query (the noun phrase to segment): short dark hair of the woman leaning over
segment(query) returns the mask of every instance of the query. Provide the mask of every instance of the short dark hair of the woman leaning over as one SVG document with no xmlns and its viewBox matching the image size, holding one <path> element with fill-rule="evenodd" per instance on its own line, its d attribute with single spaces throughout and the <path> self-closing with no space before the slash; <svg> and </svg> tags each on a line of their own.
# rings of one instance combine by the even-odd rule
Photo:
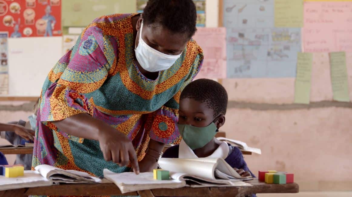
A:
<svg viewBox="0 0 352 197">
<path fill-rule="evenodd" d="M 149 0 L 143 10 L 143 23 L 159 23 L 174 33 L 191 38 L 197 31 L 197 11 L 192 0 Z"/>
</svg>

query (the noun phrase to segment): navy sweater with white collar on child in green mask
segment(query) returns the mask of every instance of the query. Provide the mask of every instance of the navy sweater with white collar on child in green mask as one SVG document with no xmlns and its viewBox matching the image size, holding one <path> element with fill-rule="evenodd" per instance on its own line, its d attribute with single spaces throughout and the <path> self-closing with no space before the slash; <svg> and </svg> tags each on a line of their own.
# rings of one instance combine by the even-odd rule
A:
<svg viewBox="0 0 352 197">
<path fill-rule="evenodd" d="M 189 148 L 183 140 L 181 140 L 180 145 L 172 146 L 166 149 L 162 156 L 163 158 L 198 158 L 194 154 L 193 150 Z M 252 177 L 254 174 L 247 167 L 244 161 L 242 152 L 239 148 L 231 146 L 226 142 L 222 142 L 219 147 L 214 151 L 213 154 L 209 155 L 208 158 L 222 158 L 233 168 L 243 169 L 244 171 L 249 171 Z"/>
</svg>

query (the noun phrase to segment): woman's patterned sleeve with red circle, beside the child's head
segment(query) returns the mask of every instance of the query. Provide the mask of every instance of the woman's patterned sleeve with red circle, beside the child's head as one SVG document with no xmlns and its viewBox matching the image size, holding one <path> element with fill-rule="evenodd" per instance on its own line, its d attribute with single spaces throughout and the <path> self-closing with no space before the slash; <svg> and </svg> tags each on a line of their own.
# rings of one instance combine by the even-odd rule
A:
<svg viewBox="0 0 352 197">
<path fill-rule="evenodd" d="M 203 63 L 203 53 L 199 48 L 199 54 L 196 56 L 193 65 L 189 71 L 186 80 L 183 82 L 180 90 L 167 103 L 164 104 L 155 113 L 150 138 L 152 140 L 166 143 L 178 144 L 181 141 L 181 135 L 178 132 L 178 107 L 180 103 L 180 95 L 184 87 L 186 87 L 197 75 Z"/>
</svg>

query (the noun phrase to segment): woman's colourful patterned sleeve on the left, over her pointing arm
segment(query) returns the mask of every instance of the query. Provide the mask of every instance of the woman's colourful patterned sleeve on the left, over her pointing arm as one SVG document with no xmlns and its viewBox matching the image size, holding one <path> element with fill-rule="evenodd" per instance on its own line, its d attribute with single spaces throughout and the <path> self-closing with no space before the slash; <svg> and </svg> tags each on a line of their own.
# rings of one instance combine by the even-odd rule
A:
<svg viewBox="0 0 352 197">
<path fill-rule="evenodd" d="M 81 39 L 72 49 L 70 60 L 61 77 L 44 94 L 41 103 L 40 121 L 56 129 L 50 121 L 60 121 L 79 113 L 93 115 L 93 107 L 83 95 L 97 90 L 107 79 L 111 65 L 115 60 L 117 41 L 103 35 L 98 27 L 88 27 Z M 115 47 L 115 50 L 114 50 Z M 65 62 L 60 62 L 64 64 Z M 82 142 L 81 138 L 69 136 L 71 140 Z"/>
</svg>

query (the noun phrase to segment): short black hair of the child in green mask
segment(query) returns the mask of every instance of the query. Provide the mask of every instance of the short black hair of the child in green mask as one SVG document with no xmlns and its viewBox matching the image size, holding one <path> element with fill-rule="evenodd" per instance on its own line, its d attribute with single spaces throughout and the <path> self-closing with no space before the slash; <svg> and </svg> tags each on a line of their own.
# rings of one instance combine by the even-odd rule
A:
<svg viewBox="0 0 352 197">
<path fill-rule="evenodd" d="M 227 92 L 220 83 L 211 79 L 198 79 L 190 82 L 181 92 L 180 100 L 184 98 L 194 99 L 214 111 L 214 117 L 220 113 L 226 114 Z"/>
</svg>

